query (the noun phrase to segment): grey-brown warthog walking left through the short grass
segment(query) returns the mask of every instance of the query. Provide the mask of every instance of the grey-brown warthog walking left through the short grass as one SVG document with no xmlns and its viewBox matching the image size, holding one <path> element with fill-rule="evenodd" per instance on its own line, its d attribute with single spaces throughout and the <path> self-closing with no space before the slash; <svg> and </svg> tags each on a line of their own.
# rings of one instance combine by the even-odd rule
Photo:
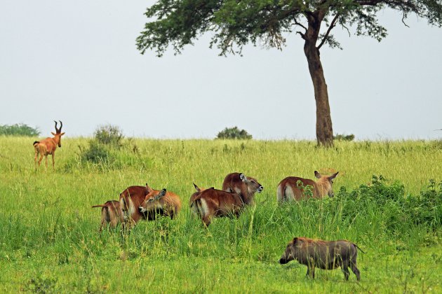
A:
<svg viewBox="0 0 442 294">
<path fill-rule="evenodd" d="M 359 247 L 356 244 L 347 240 L 323 241 L 295 237 L 288 243 L 279 263 L 284 265 L 290 260 L 297 260 L 301 265 L 307 265 L 307 276 L 313 279 L 315 267 L 320 269 L 341 267 L 345 279 L 348 280 L 350 275 L 348 267 L 350 267 L 359 281 L 361 275 L 356 267 L 357 248 Z"/>
</svg>

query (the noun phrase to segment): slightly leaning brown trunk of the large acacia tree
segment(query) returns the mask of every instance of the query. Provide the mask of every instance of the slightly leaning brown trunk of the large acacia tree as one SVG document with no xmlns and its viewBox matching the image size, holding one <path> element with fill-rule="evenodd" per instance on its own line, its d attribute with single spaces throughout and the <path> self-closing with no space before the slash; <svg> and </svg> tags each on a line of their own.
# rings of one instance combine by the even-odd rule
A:
<svg viewBox="0 0 442 294">
<path fill-rule="evenodd" d="M 322 69 L 319 49 L 316 48 L 319 29 L 323 15 L 317 11 L 307 17 L 309 27 L 302 37 L 305 40 L 304 53 L 309 64 L 310 76 L 314 87 L 314 99 L 316 100 L 316 140 L 318 145 L 333 146 L 333 127 L 328 104 L 328 91 L 326 79 Z"/>
</svg>

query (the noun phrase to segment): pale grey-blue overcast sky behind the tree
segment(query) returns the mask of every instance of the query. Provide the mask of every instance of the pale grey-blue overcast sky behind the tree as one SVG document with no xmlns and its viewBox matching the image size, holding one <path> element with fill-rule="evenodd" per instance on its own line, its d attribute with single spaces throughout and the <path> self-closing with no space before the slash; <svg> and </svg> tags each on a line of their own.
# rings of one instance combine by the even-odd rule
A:
<svg viewBox="0 0 442 294">
<path fill-rule="evenodd" d="M 62 120 L 66 137 L 116 125 L 127 137 L 216 137 L 238 126 L 255 139 L 316 139 L 316 106 L 303 43 L 246 46 L 218 56 L 210 36 L 174 55 L 141 55 L 135 38 L 154 1 L 0 1 L 0 125 L 41 136 Z M 321 48 L 335 134 L 356 139 L 440 139 L 442 29 L 392 10 L 388 36 L 349 36 Z M 353 33 L 353 30 L 350 29 Z"/>
</svg>

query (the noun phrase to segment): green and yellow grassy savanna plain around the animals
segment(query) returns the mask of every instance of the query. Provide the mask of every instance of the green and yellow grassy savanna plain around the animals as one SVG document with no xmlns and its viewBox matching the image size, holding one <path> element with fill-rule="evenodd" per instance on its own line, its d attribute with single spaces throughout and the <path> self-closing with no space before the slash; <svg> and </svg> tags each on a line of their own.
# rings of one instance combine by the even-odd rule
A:
<svg viewBox="0 0 442 294">
<path fill-rule="evenodd" d="M 442 142 L 126 139 L 107 160 L 84 160 L 88 139 L 63 138 L 55 172 L 34 172 L 34 139 L 0 137 L 0 292 L 434 292 L 442 277 Z M 44 160 L 43 160 L 44 162 Z M 286 176 L 339 171 L 334 198 L 276 204 Z M 192 183 L 221 188 L 230 172 L 264 191 L 239 218 L 208 229 L 189 211 Z M 373 177 L 373 175 L 375 177 Z M 382 175 L 382 176 L 381 176 Z M 434 181 L 430 181 L 430 180 Z M 98 234 L 100 209 L 133 185 L 167 188 L 183 208 L 129 235 Z M 349 239 L 361 282 L 340 269 L 279 265 L 296 236 Z"/>
</svg>

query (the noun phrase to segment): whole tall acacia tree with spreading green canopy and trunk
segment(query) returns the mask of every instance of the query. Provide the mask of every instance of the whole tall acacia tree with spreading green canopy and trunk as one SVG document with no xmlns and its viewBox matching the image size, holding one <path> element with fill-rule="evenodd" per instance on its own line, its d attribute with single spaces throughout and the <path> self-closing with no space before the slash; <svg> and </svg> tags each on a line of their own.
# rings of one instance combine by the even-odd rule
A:
<svg viewBox="0 0 442 294">
<path fill-rule="evenodd" d="M 171 46 L 175 54 L 207 31 L 213 31 L 210 48 L 220 55 L 241 54 L 243 45 L 262 42 L 281 50 L 288 33 L 304 40 L 316 100 L 316 139 L 323 146 L 333 145 L 333 127 L 328 90 L 319 50 L 324 44 L 340 48 L 331 31 L 334 27 L 355 29 L 356 35 L 377 41 L 387 29 L 377 20 L 377 12 L 399 10 L 402 21 L 414 13 L 430 25 L 442 25 L 442 0 L 159 0 L 147 8 L 147 22 L 137 38 L 142 54 L 155 50 L 161 57 Z M 322 28 L 321 28 L 322 26 Z"/>
</svg>

